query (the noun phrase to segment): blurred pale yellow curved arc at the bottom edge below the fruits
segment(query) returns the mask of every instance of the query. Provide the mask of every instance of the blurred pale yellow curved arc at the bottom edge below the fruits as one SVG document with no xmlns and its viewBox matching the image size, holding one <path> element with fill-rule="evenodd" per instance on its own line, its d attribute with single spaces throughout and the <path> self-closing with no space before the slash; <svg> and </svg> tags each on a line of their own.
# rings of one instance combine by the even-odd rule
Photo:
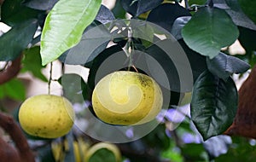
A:
<svg viewBox="0 0 256 162">
<path fill-rule="evenodd" d="M 113 161 L 113 162 L 121 161 L 121 153 L 117 146 L 115 146 L 111 143 L 108 143 L 108 142 L 99 142 L 99 143 L 96 143 L 95 145 L 93 145 L 91 148 L 89 148 L 88 152 L 85 153 L 85 162 L 89 162 L 91 156 L 101 149 L 108 149 L 108 151 L 113 153 L 113 155 L 115 157 L 115 161 Z M 104 161 L 104 157 L 102 157 L 102 161 Z"/>
</svg>

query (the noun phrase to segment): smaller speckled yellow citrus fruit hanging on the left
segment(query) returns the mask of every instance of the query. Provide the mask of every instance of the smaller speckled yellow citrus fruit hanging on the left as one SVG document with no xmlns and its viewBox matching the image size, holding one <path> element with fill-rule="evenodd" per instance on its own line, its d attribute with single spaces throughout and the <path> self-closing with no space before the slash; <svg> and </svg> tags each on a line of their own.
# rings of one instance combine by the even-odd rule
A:
<svg viewBox="0 0 256 162">
<path fill-rule="evenodd" d="M 72 104 L 62 96 L 34 95 L 20 106 L 22 130 L 32 136 L 57 138 L 73 127 L 75 113 Z"/>
</svg>

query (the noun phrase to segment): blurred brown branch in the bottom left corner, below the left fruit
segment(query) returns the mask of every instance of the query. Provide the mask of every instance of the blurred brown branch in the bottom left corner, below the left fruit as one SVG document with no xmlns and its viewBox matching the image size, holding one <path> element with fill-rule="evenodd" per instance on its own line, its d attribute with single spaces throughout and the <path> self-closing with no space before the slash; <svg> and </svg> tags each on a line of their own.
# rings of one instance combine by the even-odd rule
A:
<svg viewBox="0 0 256 162">
<path fill-rule="evenodd" d="M 23 135 L 20 127 L 15 123 L 15 120 L 10 116 L 0 113 L 0 126 L 9 134 L 9 136 L 11 136 L 12 140 L 15 142 L 15 146 L 16 148 L 18 148 L 20 162 L 34 162 L 35 159 L 32 150 L 29 148 L 26 137 Z M 4 145 L 4 143 L 2 144 Z M 1 148 L 3 148 L 2 145 Z M 6 149 L 6 151 L 9 151 L 8 153 L 6 153 L 6 156 L 8 156 L 9 153 L 15 154 L 14 151 L 11 151 L 9 149 Z"/>
</svg>

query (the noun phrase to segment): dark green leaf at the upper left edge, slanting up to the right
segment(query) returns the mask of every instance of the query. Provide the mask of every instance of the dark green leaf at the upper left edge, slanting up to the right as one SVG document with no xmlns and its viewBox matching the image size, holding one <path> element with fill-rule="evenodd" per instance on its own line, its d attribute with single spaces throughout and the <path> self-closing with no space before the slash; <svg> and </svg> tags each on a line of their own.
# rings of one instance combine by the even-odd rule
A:
<svg viewBox="0 0 256 162">
<path fill-rule="evenodd" d="M 26 20 L 3 34 L 0 37 L 0 61 L 15 60 L 32 41 L 37 28 L 38 20 Z"/>
</svg>

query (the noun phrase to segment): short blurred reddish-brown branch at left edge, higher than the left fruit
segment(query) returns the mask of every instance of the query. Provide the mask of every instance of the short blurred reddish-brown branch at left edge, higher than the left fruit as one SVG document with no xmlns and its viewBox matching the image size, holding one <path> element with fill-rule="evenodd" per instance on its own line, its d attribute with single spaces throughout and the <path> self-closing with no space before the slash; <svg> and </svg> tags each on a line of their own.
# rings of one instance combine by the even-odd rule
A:
<svg viewBox="0 0 256 162">
<path fill-rule="evenodd" d="M 15 76 L 20 72 L 21 68 L 21 59 L 20 55 L 15 61 L 12 61 L 11 65 L 0 72 L 0 84 L 8 82 L 10 79 L 15 78 Z"/>
</svg>

